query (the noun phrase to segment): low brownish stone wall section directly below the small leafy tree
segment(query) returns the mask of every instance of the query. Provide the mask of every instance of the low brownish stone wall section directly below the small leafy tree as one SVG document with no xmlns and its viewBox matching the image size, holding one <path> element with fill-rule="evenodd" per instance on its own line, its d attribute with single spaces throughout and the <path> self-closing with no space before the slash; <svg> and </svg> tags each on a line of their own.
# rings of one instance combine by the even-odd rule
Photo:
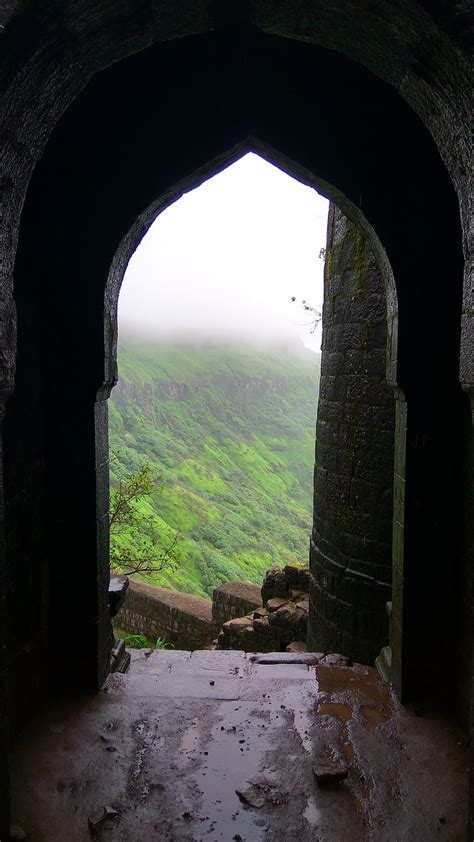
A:
<svg viewBox="0 0 474 842">
<path fill-rule="evenodd" d="M 162 637 L 177 649 L 204 649 L 212 642 L 212 605 L 207 599 L 130 580 L 117 628 Z"/>
</svg>

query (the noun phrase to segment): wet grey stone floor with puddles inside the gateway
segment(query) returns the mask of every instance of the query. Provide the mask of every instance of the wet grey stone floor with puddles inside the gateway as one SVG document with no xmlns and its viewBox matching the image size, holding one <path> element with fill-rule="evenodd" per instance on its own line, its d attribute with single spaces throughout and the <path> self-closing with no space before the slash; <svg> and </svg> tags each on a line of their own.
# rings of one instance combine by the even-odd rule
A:
<svg viewBox="0 0 474 842">
<path fill-rule="evenodd" d="M 369 667 L 317 660 L 134 652 L 24 732 L 14 824 L 31 842 L 464 839 L 454 725 L 401 708 Z"/>
</svg>

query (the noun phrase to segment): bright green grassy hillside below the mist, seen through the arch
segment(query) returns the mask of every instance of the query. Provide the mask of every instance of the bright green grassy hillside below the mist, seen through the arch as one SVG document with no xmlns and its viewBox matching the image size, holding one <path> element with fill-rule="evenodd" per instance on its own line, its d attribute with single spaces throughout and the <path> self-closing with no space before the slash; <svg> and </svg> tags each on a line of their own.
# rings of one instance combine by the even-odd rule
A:
<svg viewBox="0 0 474 842">
<path fill-rule="evenodd" d="M 182 539 L 180 567 L 151 581 L 210 596 L 306 562 L 318 382 L 310 351 L 121 344 L 111 483 L 147 457 L 163 487 L 144 514 Z"/>
</svg>

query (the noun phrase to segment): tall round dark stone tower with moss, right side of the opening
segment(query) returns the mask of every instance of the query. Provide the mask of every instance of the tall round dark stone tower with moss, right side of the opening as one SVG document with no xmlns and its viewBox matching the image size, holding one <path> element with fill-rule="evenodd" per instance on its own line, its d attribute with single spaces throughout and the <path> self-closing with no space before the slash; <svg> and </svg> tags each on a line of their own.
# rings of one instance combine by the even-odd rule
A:
<svg viewBox="0 0 474 842">
<path fill-rule="evenodd" d="M 316 427 L 308 645 L 373 663 L 388 643 L 395 408 L 386 295 L 359 230 L 330 206 Z"/>
</svg>

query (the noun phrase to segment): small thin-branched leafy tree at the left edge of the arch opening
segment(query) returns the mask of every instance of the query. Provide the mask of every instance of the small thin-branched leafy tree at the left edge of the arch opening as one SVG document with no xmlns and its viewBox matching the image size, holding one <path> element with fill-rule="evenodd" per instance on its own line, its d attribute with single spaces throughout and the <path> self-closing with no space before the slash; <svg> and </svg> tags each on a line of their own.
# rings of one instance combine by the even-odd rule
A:
<svg viewBox="0 0 474 842">
<path fill-rule="evenodd" d="M 118 461 L 117 453 L 112 461 Z M 150 512 L 150 497 L 160 488 L 161 478 L 144 460 L 110 489 L 110 566 L 117 573 L 151 576 L 179 564 L 179 533 L 170 540 Z"/>
</svg>

